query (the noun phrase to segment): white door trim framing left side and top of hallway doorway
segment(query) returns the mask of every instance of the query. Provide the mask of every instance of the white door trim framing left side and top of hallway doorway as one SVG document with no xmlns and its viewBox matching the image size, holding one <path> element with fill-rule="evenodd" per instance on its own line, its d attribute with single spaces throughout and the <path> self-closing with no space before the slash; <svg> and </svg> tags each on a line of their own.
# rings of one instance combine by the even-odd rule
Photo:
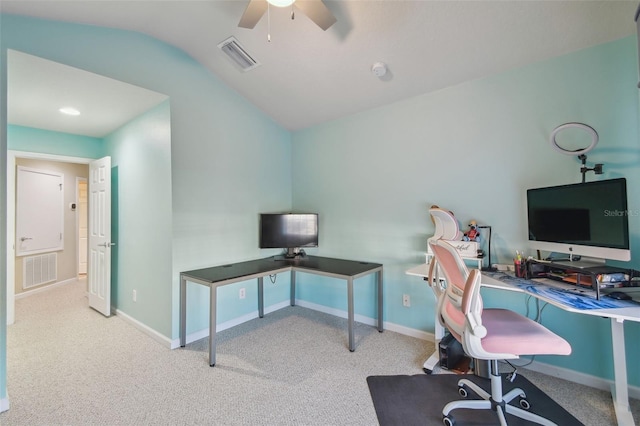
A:
<svg viewBox="0 0 640 426">
<path fill-rule="evenodd" d="M 15 240 L 16 240 L 16 159 L 59 161 L 62 163 L 89 164 L 92 158 L 69 157 L 41 152 L 7 151 L 7 325 L 15 322 Z"/>
</svg>

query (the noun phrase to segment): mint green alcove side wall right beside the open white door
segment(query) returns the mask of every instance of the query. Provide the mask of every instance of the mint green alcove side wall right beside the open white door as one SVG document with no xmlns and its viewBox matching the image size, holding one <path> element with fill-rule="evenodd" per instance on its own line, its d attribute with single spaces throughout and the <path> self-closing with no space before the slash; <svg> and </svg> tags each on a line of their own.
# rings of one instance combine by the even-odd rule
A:
<svg viewBox="0 0 640 426">
<path fill-rule="evenodd" d="M 105 137 L 112 167 L 111 303 L 171 334 L 169 101 Z M 136 302 L 133 301 L 136 290 Z"/>
</svg>

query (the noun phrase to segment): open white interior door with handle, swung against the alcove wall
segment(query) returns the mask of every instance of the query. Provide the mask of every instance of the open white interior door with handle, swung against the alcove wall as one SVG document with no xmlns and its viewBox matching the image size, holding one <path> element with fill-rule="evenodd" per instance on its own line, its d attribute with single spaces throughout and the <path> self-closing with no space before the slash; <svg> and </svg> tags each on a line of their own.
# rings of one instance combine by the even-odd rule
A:
<svg viewBox="0 0 640 426">
<path fill-rule="evenodd" d="M 89 163 L 89 306 L 111 315 L 111 157 Z"/>
</svg>

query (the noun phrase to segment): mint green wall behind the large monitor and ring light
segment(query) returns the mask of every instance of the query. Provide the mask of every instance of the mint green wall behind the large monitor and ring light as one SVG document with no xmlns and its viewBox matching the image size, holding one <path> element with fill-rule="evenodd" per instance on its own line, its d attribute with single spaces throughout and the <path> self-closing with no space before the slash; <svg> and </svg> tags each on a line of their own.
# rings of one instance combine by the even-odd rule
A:
<svg viewBox="0 0 640 426">
<path fill-rule="evenodd" d="M 556 126 L 593 126 L 600 143 L 588 163 L 604 163 L 605 173 L 590 173 L 588 180 L 626 177 L 630 209 L 640 209 L 636 46 L 635 37 L 625 38 L 297 132 L 294 208 L 320 213 L 323 255 L 384 263 L 385 321 L 433 331 L 433 296 L 423 281 L 405 274 L 425 260 L 433 232 L 427 209 L 438 204 L 462 224 L 492 225 L 494 262 L 510 262 L 515 250 L 531 253 L 525 190 L 581 179 L 578 159 L 549 144 Z M 640 269 L 637 217 L 630 228 L 629 265 Z M 307 282 L 321 281 L 309 276 Z M 370 285 L 360 287 L 368 291 Z M 402 306 L 402 294 L 411 296 L 410 308 Z M 485 298 L 487 305 L 525 310 L 521 296 L 494 291 Z M 326 302 L 342 303 L 339 297 Z M 362 302 L 356 310 L 369 315 L 373 307 Z M 612 377 L 610 354 L 598 358 L 609 350 L 607 321 L 553 307 L 543 320 L 569 339 L 574 353 L 539 361 Z M 626 329 L 630 337 L 640 331 L 636 323 Z M 636 386 L 637 341 L 627 340 Z"/>
</svg>

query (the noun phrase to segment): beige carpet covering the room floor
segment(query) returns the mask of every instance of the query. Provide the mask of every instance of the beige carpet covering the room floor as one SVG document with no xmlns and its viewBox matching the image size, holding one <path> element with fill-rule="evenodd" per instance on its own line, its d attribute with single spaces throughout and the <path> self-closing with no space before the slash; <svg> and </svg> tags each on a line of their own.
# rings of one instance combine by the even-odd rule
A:
<svg viewBox="0 0 640 426">
<path fill-rule="evenodd" d="M 16 301 L 11 408 L 2 425 L 375 425 L 371 375 L 420 374 L 433 344 L 287 307 L 169 350 L 87 306 L 84 282 Z M 522 370 L 586 425 L 614 424 L 608 393 Z M 633 401 L 640 419 L 640 404 Z"/>
</svg>

